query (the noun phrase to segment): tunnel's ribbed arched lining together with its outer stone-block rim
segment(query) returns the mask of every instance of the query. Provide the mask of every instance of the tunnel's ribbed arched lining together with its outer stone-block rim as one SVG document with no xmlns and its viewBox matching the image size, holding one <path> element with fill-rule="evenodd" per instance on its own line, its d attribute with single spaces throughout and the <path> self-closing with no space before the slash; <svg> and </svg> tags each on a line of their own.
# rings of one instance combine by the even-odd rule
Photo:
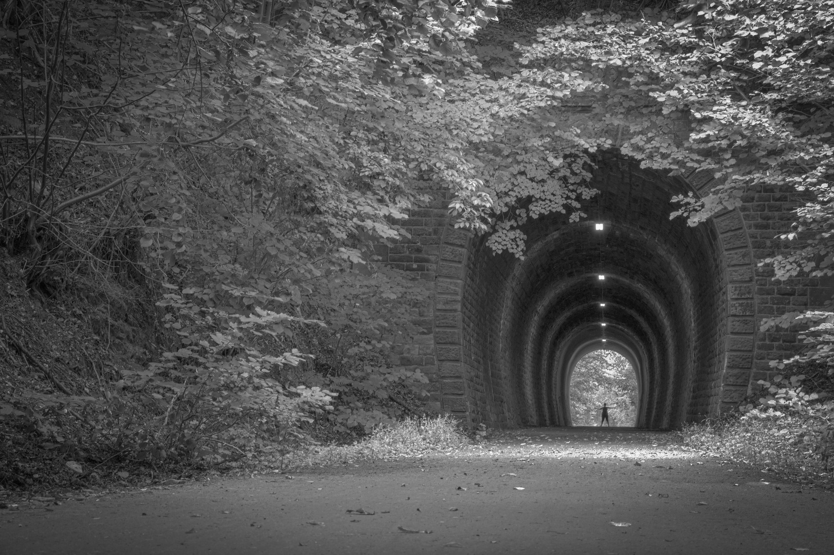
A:
<svg viewBox="0 0 834 555">
<path fill-rule="evenodd" d="M 708 186 L 699 176 L 668 178 L 608 157 L 593 179 L 608 207 L 597 216 L 608 221 L 609 233 L 630 234 L 617 248 L 632 248 L 643 257 L 638 262 L 620 257 L 622 268 L 610 268 L 612 287 L 617 280 L 632 283 L 619 289 L 615 325 L 631 336 L 629 348 L 643 353 L 641 422 L 676 427 L 732 406 L 750 382 L 756 345 L 756 284 L 741 211 L 686 228 L 679 219 L 669 222 L 668 200 L 673 193 Z M 593 237 L 588 225 L 559 216 L 527 224 L 525 262 L 488 253 L 485 238 L 448 221 L 435 227 L 433 378 L 435 399 L 444 410 L 499 427 L 569 422 L 565 376 L 575 359 L 575 332 L 586 324 L 582 303 L 590 301 L 575 301 L 576 292 L 559 297 L 553 290 L 594 270 L 580 260 L 577 268 L 552 274 L 554 264 L 570 265 L 589 250 L 581 240 Z M 574 238 L 559 243 L 565 235 Z M 641 264 L 654 266 L 641 273 Z M 577 291 L 589 287 L 586 280 Z M 642 301 L 641 287 L 651 289 Z M 543 301 L 549 294 L 560 303 Z M 653 304 L 665 308 L 652 312 Z M 531 323 L 538 326 L 532 332 Z M 536 344 L 530 344 L 531 335 Z M 596 339 L 582 337 L 585 343 Z"/>
</svg>

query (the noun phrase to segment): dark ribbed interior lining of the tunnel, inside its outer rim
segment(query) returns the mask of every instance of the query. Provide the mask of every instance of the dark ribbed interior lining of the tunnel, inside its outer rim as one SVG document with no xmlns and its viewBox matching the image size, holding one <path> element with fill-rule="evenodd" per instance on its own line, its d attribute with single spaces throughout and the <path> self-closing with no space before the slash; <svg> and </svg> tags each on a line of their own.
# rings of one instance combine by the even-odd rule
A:
<svg viewBox="0 0 834 555">
<path fill-rule="evenodd" d="M 688 183 L 628 159 L 600 158 L 590 185 L 588 218 L 525 224 L 523 260 L 471 243 L 461 343 L 483 421 L 570 425 L 570 373 L 600 348 L 635 369 L 640 428 L 676 428 L 718 403 L 726 268 L 714 224 L 670 219 Z"/>
</svg>

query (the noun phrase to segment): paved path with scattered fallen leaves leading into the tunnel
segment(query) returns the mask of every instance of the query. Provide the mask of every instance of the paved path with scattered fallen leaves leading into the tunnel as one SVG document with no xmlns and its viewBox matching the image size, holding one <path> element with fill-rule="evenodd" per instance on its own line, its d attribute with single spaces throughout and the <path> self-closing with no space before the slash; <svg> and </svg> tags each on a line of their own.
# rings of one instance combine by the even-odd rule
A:
<svg viewBox="0 0 834 555">
<path fill-rule="evenodd" d="M 0 555 L 834 552 L 834 495 L 675 440 L 528 428 L 464 453 L 0 511 Z"/>
</svg>

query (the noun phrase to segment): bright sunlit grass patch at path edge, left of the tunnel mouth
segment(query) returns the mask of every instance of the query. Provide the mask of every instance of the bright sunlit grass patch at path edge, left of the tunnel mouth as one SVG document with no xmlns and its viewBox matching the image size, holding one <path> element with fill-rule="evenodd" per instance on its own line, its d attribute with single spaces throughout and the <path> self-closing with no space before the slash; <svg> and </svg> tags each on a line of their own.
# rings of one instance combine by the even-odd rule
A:
<svg viewBox="0 0 834 555">
<path fill-rule="evenodd" d="M 330 466 L 359 460 L 425 457 L 463 448 L 471 443 L 464 428 L 450 415 L 405 418 L 380 426 L 353 445 L 312 448 L 285 458 L 285 468 Z"/>
</svg>

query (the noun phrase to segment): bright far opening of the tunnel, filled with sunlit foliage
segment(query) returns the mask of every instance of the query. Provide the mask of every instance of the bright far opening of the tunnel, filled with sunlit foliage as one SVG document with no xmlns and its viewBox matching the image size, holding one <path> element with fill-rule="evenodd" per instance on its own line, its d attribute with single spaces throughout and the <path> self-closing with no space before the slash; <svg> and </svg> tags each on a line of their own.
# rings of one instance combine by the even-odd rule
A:
<svg viewBox="0 0 834 555">
<path fill-rule="evenodd" d="M 570 425 L 599 426 L 607 403 L 611 427 L 637 423 L 639 389 L 628 358 L 608 349 L 586 354 L 570 373 Z"/>
</svg>

